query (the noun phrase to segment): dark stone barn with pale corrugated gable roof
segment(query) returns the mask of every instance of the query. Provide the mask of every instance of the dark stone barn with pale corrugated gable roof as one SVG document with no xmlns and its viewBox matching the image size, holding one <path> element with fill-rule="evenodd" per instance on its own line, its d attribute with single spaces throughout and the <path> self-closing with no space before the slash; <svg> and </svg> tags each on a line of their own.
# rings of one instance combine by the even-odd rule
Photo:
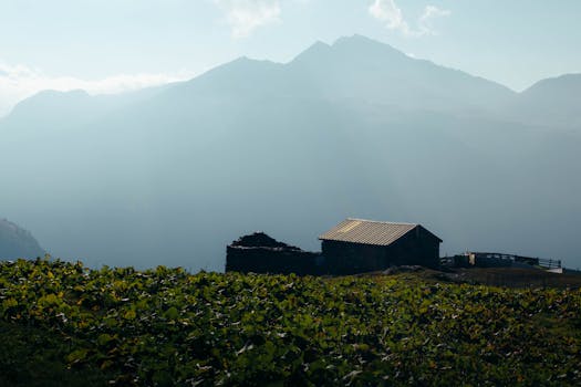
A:
<svg viewBox="0 0 581 387">
<path fill-rule="evenodd" d="M 442 239 L 416 223 L 346 219 L 319 239 L 326 274 L 372 272 L 393 265 L 439 266 Z"/>
</svg>

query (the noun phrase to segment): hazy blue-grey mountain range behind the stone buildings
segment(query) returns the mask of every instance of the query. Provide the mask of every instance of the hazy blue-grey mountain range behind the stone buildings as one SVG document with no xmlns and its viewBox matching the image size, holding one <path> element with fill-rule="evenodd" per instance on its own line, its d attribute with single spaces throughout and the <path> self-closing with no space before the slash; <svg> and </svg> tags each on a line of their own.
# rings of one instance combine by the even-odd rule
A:
<svg viewBox="0 0 581 387">
<path fill-rule="evenodd" d="M 359 35 L 131 94 L 43 92 L 0 121 L 2 216 L 90 265 L 224 270 L 240 234 L 318 249 L 361 217 L 575 268 L 580 96 L 579 74 L 515 93 Z"/>
</svg>

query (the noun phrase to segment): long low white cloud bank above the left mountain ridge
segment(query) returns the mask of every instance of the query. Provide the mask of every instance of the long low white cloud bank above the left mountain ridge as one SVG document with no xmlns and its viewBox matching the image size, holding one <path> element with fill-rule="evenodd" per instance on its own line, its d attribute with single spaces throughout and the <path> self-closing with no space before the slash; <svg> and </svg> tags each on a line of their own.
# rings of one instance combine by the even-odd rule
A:
<svg viewBox="0 0 581 387">
<path fill-rule="evenodd" d="M 118 74 L 101 80 L 48 76 L 39 69 L 9 65 L 0 61 L 0 117 L 20 101 L 43 90 L 84 90 L 90 94 L 113 94 L 191 79 L 194 74 Z"/>
</svg>

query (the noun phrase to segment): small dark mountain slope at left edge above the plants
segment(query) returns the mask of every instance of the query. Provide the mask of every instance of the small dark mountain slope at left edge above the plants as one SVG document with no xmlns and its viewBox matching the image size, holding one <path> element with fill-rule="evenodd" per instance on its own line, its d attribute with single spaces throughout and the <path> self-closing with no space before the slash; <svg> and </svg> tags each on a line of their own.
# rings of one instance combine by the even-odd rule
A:
<svg viewBox="0 0 581 387">
<path fill-rule="evenodd" d="M 32 234 L 17 224 L 0 219 L 0 259 L 43 257 L 44 250 Z"/>
</svg>

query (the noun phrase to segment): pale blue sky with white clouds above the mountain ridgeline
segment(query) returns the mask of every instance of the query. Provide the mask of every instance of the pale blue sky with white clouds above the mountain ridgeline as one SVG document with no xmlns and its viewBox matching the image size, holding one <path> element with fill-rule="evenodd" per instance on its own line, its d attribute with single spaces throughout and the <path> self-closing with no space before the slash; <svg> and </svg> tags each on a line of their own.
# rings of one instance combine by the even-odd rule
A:
<svg viewBox="0 0 581 387">
<path fill-rule="evenodd" d="M 41 90 L 137 90 L 355 33 L 522 91 L 581 72 L 579 15 L 578 0 L 0 0 L 0 116 Z"/>
</svg>

